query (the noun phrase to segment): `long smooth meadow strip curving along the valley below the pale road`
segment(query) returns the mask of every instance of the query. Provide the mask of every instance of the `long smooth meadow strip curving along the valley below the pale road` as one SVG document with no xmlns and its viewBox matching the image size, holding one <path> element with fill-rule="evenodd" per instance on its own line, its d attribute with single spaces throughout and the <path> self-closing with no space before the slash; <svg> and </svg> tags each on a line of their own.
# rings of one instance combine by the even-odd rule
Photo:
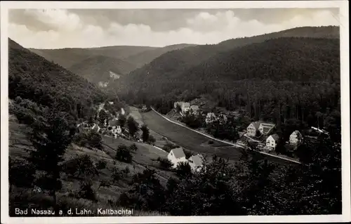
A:
<svg viewBox="0 0 351 224">
<path fill-rule="evenodd" d="M 229 158 L 232 161 L 238 161 L 241 157 L 242 152 L 239 148 L 220 143 L 216 140 L 213 140 L 213 145 L 208 145 L 210 138 L 173 124 L 153 111 L 143 113 L 142 116 L 143 121 L 152 131 L 156 131 L 187 150 L 208 155 L 217 154 L 219 157 Z M 277 164 L 290 163 L 277 157 L 265 157 L 270 162 Z"/>
</svg>

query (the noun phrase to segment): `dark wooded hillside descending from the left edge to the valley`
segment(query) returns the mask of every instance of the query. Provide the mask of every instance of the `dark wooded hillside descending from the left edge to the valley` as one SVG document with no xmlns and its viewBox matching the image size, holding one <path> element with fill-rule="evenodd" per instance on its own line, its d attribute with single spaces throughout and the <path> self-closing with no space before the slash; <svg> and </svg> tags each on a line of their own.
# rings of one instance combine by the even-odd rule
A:
<svg viewBox="0 0 351 224">
<path fill-rule="evenodd" d="M 26 98 L 62 110 L 84 110 L 107 98 L 105 93 L 86 79 L 65 70 L 8 39 L 8 97 Z"/>
</svg>

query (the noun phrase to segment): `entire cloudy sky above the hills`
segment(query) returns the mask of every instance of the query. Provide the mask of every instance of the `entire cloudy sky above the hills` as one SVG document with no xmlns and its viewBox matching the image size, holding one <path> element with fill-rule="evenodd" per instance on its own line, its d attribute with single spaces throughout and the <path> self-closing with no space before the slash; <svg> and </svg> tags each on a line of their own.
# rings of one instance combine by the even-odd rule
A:
<svg viewBox="0 0 351 224">
<path fill-rule="evenodd" d="M 11 9 L 8 36 L 26 48 L 218 44 L 338 17 L 338 8 Z"/>
</svg>

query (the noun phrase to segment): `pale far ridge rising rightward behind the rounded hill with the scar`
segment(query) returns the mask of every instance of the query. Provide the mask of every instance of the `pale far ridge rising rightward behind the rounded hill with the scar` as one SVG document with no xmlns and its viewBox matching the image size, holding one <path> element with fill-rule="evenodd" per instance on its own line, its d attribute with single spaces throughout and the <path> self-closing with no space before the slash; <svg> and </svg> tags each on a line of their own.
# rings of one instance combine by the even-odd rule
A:
<svg viewBox="0 0 351 224">
<path fill-rule="evenodd" d="M 163 48 L 147 50 L 142 53 L 131 55 L 128 58 L 125 58 L 125 60 L 133 63 L 136 67 L 141 67 L 147 63 L 150 63 L 152 60 L 163 55 L 164 53 L 167 53 L 168 51 L 175 51 L 189 46 L 195 46 L 195 44 L 174 44 Z"/>
</svg>

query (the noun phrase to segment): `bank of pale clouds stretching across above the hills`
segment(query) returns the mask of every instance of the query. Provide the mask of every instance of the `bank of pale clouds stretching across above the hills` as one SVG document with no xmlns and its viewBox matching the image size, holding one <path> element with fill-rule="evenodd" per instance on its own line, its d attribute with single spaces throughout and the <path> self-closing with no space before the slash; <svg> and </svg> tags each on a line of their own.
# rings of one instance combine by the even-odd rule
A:
<svg viewBox="0 0 351 224">
<path fill-rule="evenodd" d="M 138 12 L 140 11 L 133 11 L 132 14 Z M 124 20 L 122 23 L 112 18 L 103 18 L 101 21 L 104 23 L 101 24 L 98 22 L 101 15 L 91 15 L 87 20 L 88 14 L 81 15 L 64 9 L 25 10 L 22 16 L 27 20 L 10 20 L 8 31 L 11 39 L 27 48 L 86 48 L 110 45 L 217 44 L 225 39 L 251 37 L 293 27 L 338 25 L 338 19 L 328 9 L 301 12 L 303 13 L 290 13 L 292 16 L 289 18 L 284 18 L 282 13 L 282 18 L 276 18 L 273 22 L 263 22 L 254 16 L 241 19 L 240 13 L 234 10 L 187 12 L 185 15 L 188 17 L 183 19 L 181 26 L 178 21 L 175 28 L 171 26 L 171 20 L 167 20 L 167 13 L 162 11 L 159 15 L 154 15 L 154 18 L 164 16 L 159 24 L 169 24 L 169 28 L 156 29 L 154 22 L 142 22 L 141 15 L 138 17 L 141 22 L 128 23 Z M 148 13 L 150 11 L 143 11 L 143 16 Z M 17 18 L 19 16 L 16 15 Z M 128 15 L 128 18 L 131 16 Z M 170 18 L 174 20 L 175 17 L 172 14 Z"/>
</svg>

